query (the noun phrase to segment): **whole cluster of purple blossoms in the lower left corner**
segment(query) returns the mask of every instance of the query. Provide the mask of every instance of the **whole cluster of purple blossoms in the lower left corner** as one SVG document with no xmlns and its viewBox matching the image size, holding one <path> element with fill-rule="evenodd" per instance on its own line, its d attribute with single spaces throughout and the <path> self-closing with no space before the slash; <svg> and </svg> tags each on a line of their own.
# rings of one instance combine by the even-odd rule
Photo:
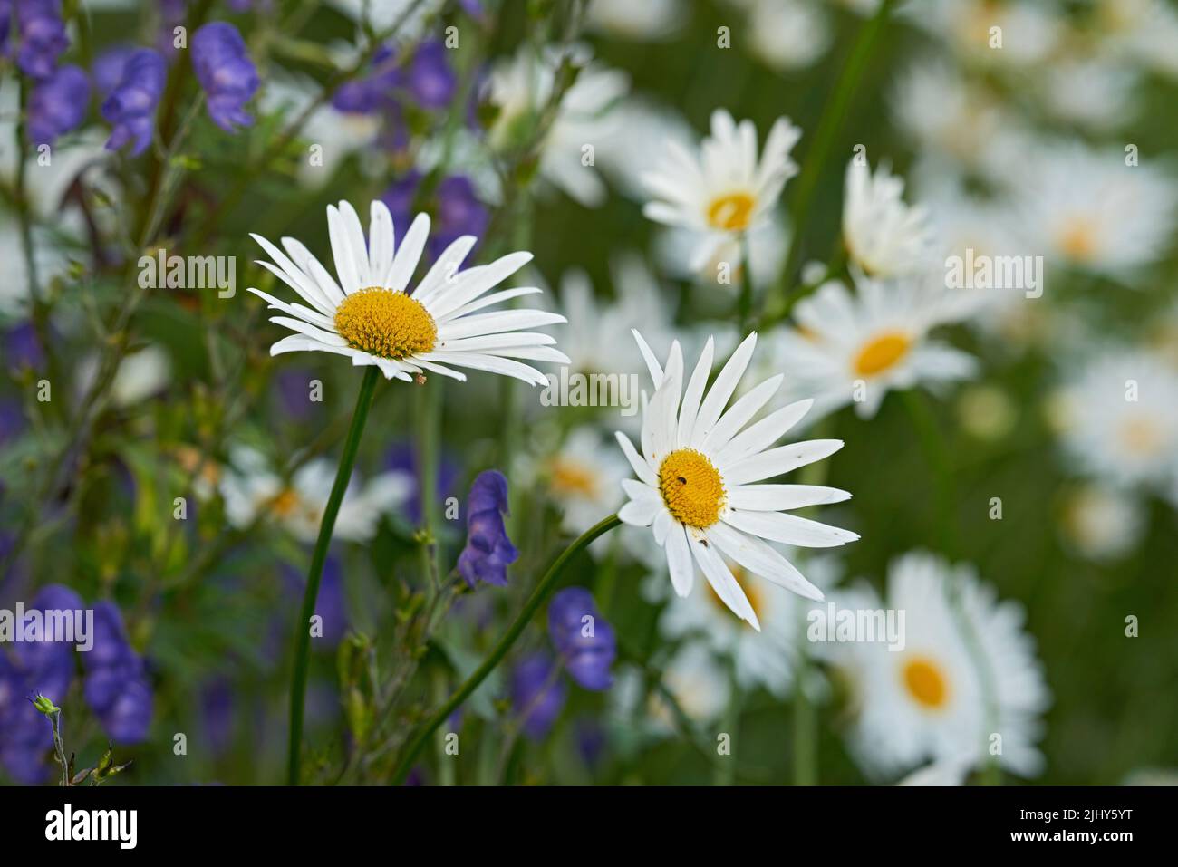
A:
<svg viewBox="0 0 1178 867">
<path fill-rule="evenodd" d="M 80 609 L 85 605 L 78 594 L 48 584 L 27 610 Z M 15 642 L 11 656 L 0 650 L 0 765 L 18 782 L 42 782 L 48 774 L 45 756 L 53 747 L 49 724 L 25 697 L 44 694 L 60 704 L 74 679 L 74 655 L 68 641 Z M 151 724 L 151 686 L 113 603 L 94 605 L 93 647 L 81 656 L 86 702 L 106 734 L 120 743 L 143 741 Z"/>
</svg>

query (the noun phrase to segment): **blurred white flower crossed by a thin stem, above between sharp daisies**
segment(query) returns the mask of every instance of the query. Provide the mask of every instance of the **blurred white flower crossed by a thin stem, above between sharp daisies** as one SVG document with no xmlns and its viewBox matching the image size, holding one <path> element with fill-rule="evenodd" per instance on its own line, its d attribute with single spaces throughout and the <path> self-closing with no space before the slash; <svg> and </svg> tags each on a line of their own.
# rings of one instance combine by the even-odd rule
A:
<svg viewBox="0 0 1178 867">
<path fill-rule="evenodd" d="M 498 114 L 488 131 L 495 150 L 528 140 L 556 85 L 556 72 L 567 55 L 537 53 L 524 46 L 491 72 L 488 99 Z M 614 108 L 629 91 L 629 77 L 589 62 L 587 49 L 574 46 L 568 57 L 581 66 L 576 81 L 561 98 L 556 115 L 541 144 L 543 178 L 587 207 L 605 199 L 596 167 L 596 151 L 607 146 L 620 118 Z M 590 159 L 591 154 L 591 159 Z"/>
</svg>

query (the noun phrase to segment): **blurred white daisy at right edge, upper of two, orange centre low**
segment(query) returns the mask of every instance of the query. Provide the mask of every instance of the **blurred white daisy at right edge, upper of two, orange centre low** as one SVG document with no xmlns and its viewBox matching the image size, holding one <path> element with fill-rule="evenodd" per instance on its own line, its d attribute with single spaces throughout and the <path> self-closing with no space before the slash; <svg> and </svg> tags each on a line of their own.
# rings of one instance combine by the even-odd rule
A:
<svg viewBox="0 0 1178 867">
<path fill-rule="evenodd" d="M 1172 239 L 1178 184 L 1120 150 L 1078 144 L 1035 151 L 1019 184 L 1030 243 L 1051 260 L 1120 274 L 1154 262 Z"/>
</svg>

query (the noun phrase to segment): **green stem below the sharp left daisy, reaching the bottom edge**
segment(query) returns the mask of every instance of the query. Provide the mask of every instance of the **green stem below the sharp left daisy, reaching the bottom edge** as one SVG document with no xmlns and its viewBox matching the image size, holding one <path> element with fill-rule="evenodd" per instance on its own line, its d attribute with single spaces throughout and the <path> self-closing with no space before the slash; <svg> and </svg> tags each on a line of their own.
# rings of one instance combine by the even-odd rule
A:
<svg viewBox="0 0 1178 867">
<path fill-rule="evenodd" d="M 339 515 L 339 505 L 344 502 L 344 491 L 348 490 L 348 483 L 352 477 L 356 451 L 359 449 L 364 423 L 368 421 L 368 411 L 372 405 L 372 392 L 376 391 L 376 382 L 379 376 L 380 371 L 375 365 L 364 370 L 360 393 L 356 398 L 356 410 L 352 412 L 352 426 L 348 429 L 348 439 L 344 441 L 344 454 L 339 457 L 336 482 L 331 485 L 331 496 L 327 497 L 327 505 L 323 510 L 323 521 L 319 523 L 319 538 L 316 540 L 315 551 L 311 554 L 311 570 L 307 573 L 306 590 L 303 593 L 303 611 L 296 624 L 294 670 L 291 674 L 290 752 L 286 774 L 289 786 L 298 786 L 299 782 L 299 761 L 303 753 L 303 704 L 306 699 L 306 669 L 311 656 L 309 624 L 311 617 L 315 616 L 315 602 L 319 596 L 319 581 L 323 577 L 323 564 L 327 560 L 331 532 L 336 529 L 336 516 Z"/>
</svg>

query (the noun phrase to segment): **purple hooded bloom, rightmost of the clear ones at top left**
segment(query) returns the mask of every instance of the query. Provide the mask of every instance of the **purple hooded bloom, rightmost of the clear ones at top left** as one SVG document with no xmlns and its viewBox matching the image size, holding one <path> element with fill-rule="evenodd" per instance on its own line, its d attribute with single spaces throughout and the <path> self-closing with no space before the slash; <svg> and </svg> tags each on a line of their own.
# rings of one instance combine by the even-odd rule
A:
<svg viewBox="0 0 1178 867">
<path fill-rule="evenodd" d="M 237 27 L 212 21 L 192 37 L 192 67 L 205 88 L 209 117 L 225 132 L 250 126 L 253 118 L 244 106 L 258 90 L 258 70 L 245 51 Z"/>
</svg>

